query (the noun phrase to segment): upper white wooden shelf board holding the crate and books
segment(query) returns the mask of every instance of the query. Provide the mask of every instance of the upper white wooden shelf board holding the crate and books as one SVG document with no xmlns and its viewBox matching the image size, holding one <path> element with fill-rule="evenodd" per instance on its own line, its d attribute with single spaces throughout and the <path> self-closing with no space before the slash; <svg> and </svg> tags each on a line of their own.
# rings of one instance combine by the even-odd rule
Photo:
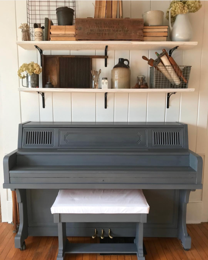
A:
<svg viewBox="0 0 208 260">
<path fill-rule="evenodd" d="M 198 42 L 137 42 L 137 41 L 17 41 L 16 44 L 25 50 L 35 50 L 37 45 L 45 50 L 169 50 L 179 46 L 180 50 L 189 50 Z"/>
</svg>

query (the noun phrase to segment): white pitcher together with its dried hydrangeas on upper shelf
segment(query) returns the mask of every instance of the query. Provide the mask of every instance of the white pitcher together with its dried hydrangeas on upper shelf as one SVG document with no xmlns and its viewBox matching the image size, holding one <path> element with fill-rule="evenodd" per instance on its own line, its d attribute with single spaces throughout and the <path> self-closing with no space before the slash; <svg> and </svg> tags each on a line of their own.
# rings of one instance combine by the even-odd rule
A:
<svg viewBox="0 0 208 260">
<path fill-rule="evenodd" d="M 192 27 L 188 19 L 188 13 L 197 12 L 201 8 L 201 1 L 172 1 L 166 18 L 169 19 L 170 40 L 190 41 L 192 38 Z M 171 23 L 174 22 L 173 27 Z"/>
</svg>

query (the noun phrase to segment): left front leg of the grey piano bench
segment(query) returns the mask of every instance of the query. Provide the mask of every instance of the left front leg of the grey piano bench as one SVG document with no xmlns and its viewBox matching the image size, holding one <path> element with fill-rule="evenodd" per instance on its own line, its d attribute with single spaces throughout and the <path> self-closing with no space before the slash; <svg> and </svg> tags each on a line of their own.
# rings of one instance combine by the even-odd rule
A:
<svg viewBox="0 0 208 260">
<path fill-rule="evenodd" d="M 64 260 L 65 246 L 67 243 L 66 223 L 62 223 L 62 222 L 58 223 L 58 234 L 59 234 L 59 251 L 58 251 L 57 260 Z"/>
</svg>

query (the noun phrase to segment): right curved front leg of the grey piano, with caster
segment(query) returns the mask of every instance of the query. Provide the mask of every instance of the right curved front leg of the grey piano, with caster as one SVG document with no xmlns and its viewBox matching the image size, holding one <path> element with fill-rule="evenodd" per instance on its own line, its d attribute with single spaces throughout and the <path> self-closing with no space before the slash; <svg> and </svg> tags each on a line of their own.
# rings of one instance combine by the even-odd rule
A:
<svg viewBox="0 0 208 260">
<path fill-rule="evenodd" d="M 186 228 L 186 207 L 189 200 L 190 189 L 180 189 L 178 212 L 178 239 L 181 240 L 184 250 L 191 248 L 191 237 Z"/>
</svg>

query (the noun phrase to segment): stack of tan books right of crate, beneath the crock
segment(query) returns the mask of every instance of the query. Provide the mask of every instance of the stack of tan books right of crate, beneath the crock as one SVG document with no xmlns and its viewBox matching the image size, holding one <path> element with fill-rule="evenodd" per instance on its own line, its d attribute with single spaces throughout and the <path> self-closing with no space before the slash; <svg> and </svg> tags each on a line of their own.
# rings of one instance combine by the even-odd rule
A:
<svg viewBox="0 0 208 260">
<path fill-rule="evenodd" d="M 143 41 L 166 42 L 168 26 L 144 26 Z"/>
</svg>

